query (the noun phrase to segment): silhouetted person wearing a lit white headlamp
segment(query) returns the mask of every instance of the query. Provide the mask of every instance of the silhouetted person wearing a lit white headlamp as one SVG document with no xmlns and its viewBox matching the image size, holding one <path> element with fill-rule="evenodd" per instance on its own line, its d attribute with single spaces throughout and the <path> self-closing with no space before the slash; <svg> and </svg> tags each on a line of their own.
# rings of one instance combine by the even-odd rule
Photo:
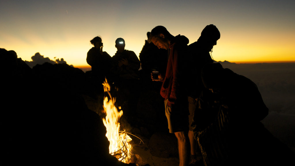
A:
<svg viewBox="0 0 295 166">
<path fill-rule="evenodd" d="M 117 38 L 117 52 L 112 56 L 112 78 L 119 88 L 117 101 L 122 106 L 124 115 L 134 115 L 138 100 L 140 61 L 133 51 L 125 50 L 125 41 Z M 131 122 L 131 121 L 130 121 Z"/>
</svg>

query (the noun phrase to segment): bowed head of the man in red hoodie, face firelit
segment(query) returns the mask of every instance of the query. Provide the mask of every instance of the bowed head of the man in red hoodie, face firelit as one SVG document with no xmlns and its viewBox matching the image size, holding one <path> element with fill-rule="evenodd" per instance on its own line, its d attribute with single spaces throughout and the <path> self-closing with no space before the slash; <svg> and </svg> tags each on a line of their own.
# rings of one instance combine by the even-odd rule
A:
<svg viewBox="0 0 295 166">
<path fill-rule="evenodd" d="M 148 43 L 153 42 L 158 48 L 164 48 L 167 50 L 173 37 L 174 36 L 171 35 L 165 27 L 156 26 L 150 32 Z"/>
</svg>

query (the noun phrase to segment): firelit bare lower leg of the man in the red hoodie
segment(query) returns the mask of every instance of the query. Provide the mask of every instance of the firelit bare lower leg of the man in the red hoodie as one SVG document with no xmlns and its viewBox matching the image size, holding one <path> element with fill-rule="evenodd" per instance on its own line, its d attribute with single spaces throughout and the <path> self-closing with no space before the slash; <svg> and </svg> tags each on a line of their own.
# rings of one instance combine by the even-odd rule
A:
<svg viewBox="0 0 295 166">
<path fill-rule="evenodd" d="M 189 136 L 184 131 L 174 134 L 178 140 L 179 166 L 187 166 L 189 164 L 190 151 Z"/>
</svg>

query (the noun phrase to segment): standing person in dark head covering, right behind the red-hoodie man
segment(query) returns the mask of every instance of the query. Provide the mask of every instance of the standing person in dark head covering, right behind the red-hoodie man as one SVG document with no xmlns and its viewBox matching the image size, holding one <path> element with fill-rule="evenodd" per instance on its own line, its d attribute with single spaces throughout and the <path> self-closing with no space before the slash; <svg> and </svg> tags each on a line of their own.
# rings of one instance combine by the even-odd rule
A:
<svg viewBox="0 0 295 166">
<path fill-rule="evenodd" d="M 195 74 L 194 79 L 196 84 L 192 88 L 194 88 L 194 93 L 189 96 L 189 140 L 191 143 L 191 163 L 196 163 L 201 158 L 199 145 L 194 139 L 193 128 L 191 124 L 193 123 L 193 117 L 196 108 L 197 98 L 200 96 L 201 91 L 204 89 L 204 85 L 201 79 L 201 69 L 207 63 L 213 63 L 213 60 L 210 56 L 212 48 L 217 44 L 217 40 L 220 38 L 220 32 L 215 25 L 207 25 L 201 32 L 201 36 L 199 39 L 190 44 L 189 48 L 191 51 L 191 55 L 193 58 L 193 63 L 195 66 Z"/>
</svg>

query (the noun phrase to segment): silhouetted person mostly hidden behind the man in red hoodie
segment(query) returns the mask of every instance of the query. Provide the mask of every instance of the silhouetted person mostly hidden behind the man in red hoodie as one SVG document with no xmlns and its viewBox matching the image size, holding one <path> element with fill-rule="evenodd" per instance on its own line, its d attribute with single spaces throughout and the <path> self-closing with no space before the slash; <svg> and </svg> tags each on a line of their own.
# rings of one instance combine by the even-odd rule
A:
<svg viewBox="0 0 295 166">
<path fill-rule="evenodd" d="M 147 32 L 148 38 L 150 37 L 150 32 Z M 159 71 L 162 75 L 165 75 L 168 61 L 168 51 L 166 49 L 158 49 L 153 43 L 148 43 L 145 40 L 145 45 L 143 46 L 141 52 L 139 53 L 139 59 L 141 63 L 141 79 L 146 85 L 156 84 L 157 91 L 160 89 L 161 84 L 159 82 L 153 82 L 150 79 L 150 73 L 154 71 Z M 159 89 L 158 89 L 159 88 Z"/>
</svg>

